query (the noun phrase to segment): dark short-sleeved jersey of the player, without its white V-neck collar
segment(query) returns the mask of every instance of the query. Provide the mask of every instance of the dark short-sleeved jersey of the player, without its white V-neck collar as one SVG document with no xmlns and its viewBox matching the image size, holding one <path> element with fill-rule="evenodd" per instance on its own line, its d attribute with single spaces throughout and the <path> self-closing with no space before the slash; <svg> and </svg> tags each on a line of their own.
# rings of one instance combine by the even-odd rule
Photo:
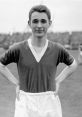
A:
<svg viewBox="0 0 82 117">
<path fill-rule="evenodd" d="M 32 93 L 55 91 L 58 64 L 71 65 L 73 60 L 62 45 L 48 41 L 42 58 L 37 62 L 27 40 L 14 44 L 0 57 L 3 65 L 17 64 L 20 90 Z"/>
</svg>

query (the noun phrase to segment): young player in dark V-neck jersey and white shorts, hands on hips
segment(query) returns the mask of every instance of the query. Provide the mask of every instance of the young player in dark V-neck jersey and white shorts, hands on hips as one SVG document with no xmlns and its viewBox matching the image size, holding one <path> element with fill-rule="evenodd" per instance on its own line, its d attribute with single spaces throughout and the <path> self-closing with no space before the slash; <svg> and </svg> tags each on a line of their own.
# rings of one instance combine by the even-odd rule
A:
<svg viewBox="0 0 82 117">
<path fill-rule="evenodd" d="M 15 117 L 62 117 L 57 93 L 60 83 L 75 71 L 76 61 L 62 45 L 47 39 L 51 14 L 46 6 L 34 6 L 28 24 L 32 36 L 0 58 L 1 74 L 17 86 Z M 12 62 L 17 64 L 19 81 L 6 67 Z M 55 78 L 60 62 L 67 67 Z"/>
</svg>

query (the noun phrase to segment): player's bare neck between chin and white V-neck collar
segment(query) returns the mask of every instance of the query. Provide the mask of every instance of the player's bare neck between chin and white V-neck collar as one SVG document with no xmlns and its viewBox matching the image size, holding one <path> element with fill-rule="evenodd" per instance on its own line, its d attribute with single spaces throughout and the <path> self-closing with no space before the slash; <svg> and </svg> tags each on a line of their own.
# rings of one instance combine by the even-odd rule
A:
<svg viewBox="0 0 82 117">
<path fill-rule="evenodd" d="M 37 37 L 34 37 L 32 35 L 32 41 L 31 41 L 31 43 L 32 43 L 33 46 L 43 47 L 45 45 L 45 43 L 46 43 L 46 39 L 47 39 L 47 36 L 45 36 L 45 37 L 38 37 L 37 38 Z"/>
</svg>

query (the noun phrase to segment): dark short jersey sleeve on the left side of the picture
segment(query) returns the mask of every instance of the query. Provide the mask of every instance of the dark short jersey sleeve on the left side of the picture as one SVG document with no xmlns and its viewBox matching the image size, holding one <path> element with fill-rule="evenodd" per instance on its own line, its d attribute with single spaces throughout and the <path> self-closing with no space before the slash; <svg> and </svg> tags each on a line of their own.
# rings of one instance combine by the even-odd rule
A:
<svg viewBox="0 0 82 117">
<path fill-rule="evenodd" d="M 19 60 L 20 49 L 17 44 L 11 46 L 5 53 L 0 56 L 0 62 L 3 65 L 8 65 L 10 63 L 17 63 Z"/>
</svg>

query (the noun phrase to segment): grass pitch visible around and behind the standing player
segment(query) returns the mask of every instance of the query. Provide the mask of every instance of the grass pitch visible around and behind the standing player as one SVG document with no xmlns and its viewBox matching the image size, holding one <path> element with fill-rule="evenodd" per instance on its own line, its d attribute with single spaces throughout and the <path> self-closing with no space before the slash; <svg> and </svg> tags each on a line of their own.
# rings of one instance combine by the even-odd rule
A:
<svg viewBox="0 0 82 117">
<path fill-rule="evenodd" d="M 0 50 L 0 54 L 4 50 Z M 69 51 L 77 60 L 78 52 Z M 60 64 L 57 75 L 65 65 Z M 8 68 L 18 78 L 15 64 Z M 62 104 L 63 117 L 81 117 L 82 116 L 82 66 L 78 66 L 76 72 L 65 79 L 59 90 L 59 97 Z M 14 116 L 15 86 L 0 75 L 0 117 Z"/>
</svg>

